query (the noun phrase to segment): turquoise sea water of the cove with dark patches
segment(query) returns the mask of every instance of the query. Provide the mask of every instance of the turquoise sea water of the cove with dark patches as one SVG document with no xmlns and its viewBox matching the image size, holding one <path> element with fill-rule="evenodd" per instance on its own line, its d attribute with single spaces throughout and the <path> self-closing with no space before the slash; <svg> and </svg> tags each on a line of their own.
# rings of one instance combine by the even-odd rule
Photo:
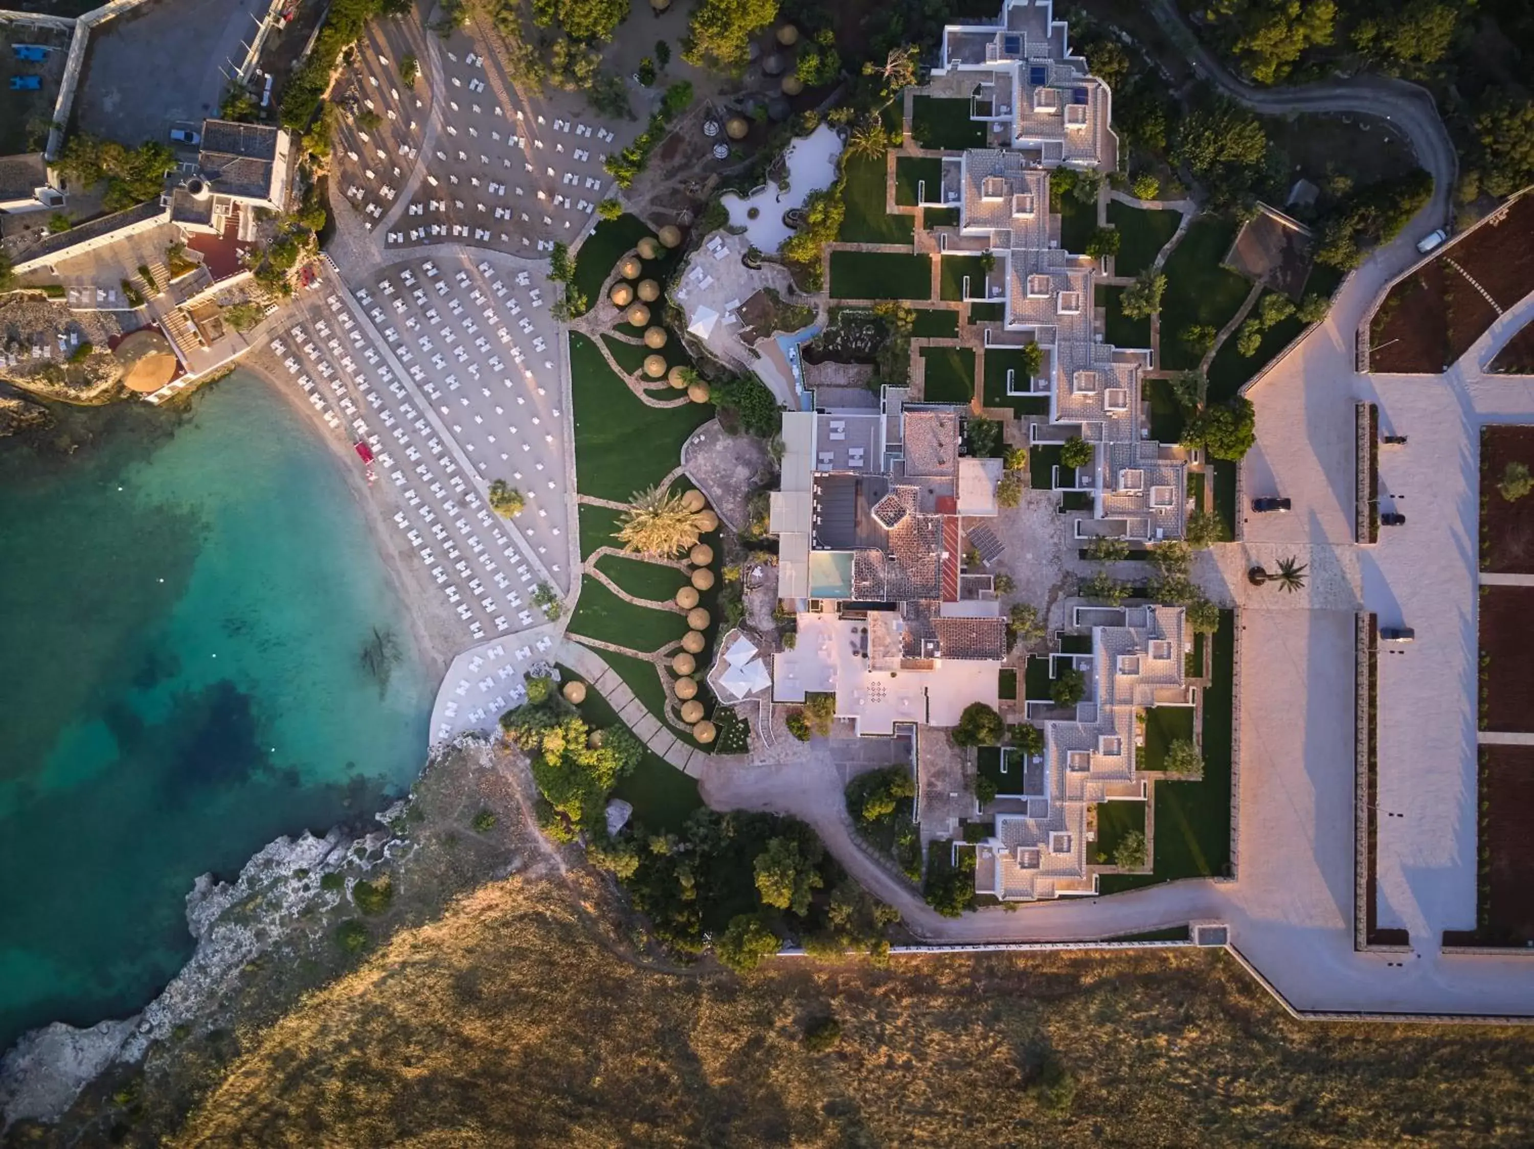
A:
<svg viewBox="0 0 1534 1149">
<path fill-rule="evenodd" d="M 0 1048 L 143 1006 L 199 873 L 408 788 L 434 687 L 344 463 L 265 382 L 58 416 L 0 440 Z"/>
</svg>

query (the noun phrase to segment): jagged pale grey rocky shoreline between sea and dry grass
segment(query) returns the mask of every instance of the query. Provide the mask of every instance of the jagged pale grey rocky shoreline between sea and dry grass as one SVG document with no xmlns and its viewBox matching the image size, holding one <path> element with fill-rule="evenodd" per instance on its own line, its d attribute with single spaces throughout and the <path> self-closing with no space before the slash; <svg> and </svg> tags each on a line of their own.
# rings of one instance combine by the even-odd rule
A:
<svg viewBox="0 0 1534 1149">
<path fill-rule="evenodd" d="M 433 755 L 408 798 L 374 815 L 379 828 L 357 835 L 336 827 L 322 838 L 308 831 L 279 838 L 250 858 L 232 882 L 199 876 L 186 897 L 187 930 L 196 939 L 192 959 L 132 1017 L 87 1029 L 55 1022 L 25 1034 L 0 1058 L 0 1129 L 17 1121 L 58 1121 L 77 1100 L 94 1108 L 94 1101 L 81 1100 L 94 1082 L 137 1071 L 152 1052 L 173 1051 L 198 1032 L 227 1032 L 245 1022 L 259 1025 L 259 1017 L 247 1016 L 252 997 L 247 983 L 259 977 L 268 954 L 282 963 L 311 965 L 324 965 L 328 954 L 331 965 L 347 965 L 337 960 L 333 930 L 339 919 L 357 913 L 353 891 L 359 881 L 388 882 L 391 890 L 414 894 L 379 923 L 394 928 L 436 916 L 462 888 L 514 870 L 515 856 L 508 858 L 502 850 L 482 865 L 456 867 L 451 881 L 443 881 L 436 873 L 443 861 L 437 856 L 440 845 L 423 850 L 443 838 L 445 821 L 453 822 L 446 839 L 454 844 L 468 828 L 462 824 L 466 807 L 505 807 L 503 821 L 515 821 L 505 796 L 497 801 L 494 793 L 505 765 L 492 744 L 462 738 Z M 479 818 L 482 825 L 483 815 Z M 425 853 L 433 858 L 423 861 Z M 258 994 L 256 1012 L 290 1005 L 276 999 L 296 999 L 308 988 L 301 980 L 279 976 L 275 994 Z"/>
</svg>

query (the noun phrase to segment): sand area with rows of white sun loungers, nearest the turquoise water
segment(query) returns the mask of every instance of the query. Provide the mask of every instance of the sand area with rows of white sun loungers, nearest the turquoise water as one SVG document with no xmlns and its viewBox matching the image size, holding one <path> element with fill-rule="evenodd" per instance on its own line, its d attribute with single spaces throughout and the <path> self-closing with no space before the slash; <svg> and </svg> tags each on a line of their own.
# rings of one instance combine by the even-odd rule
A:
<svg viewBox="0 0 1534 1149">
<path fill-rule="evenodd" d="M 517 278 L 423 259 L 348 296 L 325 275 L 268 339 L 325 423 L 367 445 L 376 485 L 397 502 L 394 526 L 476 643 L 543 624 L 534 589 L 548 581 L 563 595 L 569 584 L 555 345 L 534 361 L 545 337 L 512 334 L 517 313 L 542 310 L 531 278 Z M 494 479 L 526 497 L 514 522 L 485 502 Z"/>
</svg>

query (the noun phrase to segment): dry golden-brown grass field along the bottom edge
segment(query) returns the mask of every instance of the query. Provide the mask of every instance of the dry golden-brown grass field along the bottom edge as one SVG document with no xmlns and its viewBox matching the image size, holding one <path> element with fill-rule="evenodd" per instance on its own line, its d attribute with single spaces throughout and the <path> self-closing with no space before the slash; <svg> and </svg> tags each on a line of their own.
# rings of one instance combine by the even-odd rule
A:
<svg viewBox="0 0 1534 1149">
<path fill-rule="evenodd" d="M 673 970 L 575 882 L 497 882 L 399 934 L 253 1037 L 170 1143 L 1531 1140 L 1526 1029 L 1301 1025 L 1221 953 Z"/>
</svg>

